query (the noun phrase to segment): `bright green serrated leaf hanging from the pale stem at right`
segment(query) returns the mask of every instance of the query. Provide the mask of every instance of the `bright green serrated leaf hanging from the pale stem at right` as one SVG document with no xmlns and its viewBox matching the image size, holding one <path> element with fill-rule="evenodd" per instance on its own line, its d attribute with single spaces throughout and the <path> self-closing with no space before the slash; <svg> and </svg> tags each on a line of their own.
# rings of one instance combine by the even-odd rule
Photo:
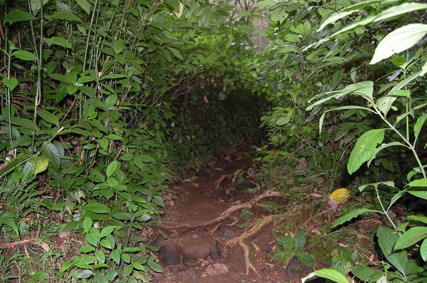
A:
<svg viewBox="0 0 427 283">
<path fill-rule="evenodd" d="M 358 138 L 347 164 L 347 171 L 350 175 L 356 172 L 363 163 L 374 155 L 377 145 L 382 143 L 384 139 L 385 130 L 369 130 Z"/>
</svg>

